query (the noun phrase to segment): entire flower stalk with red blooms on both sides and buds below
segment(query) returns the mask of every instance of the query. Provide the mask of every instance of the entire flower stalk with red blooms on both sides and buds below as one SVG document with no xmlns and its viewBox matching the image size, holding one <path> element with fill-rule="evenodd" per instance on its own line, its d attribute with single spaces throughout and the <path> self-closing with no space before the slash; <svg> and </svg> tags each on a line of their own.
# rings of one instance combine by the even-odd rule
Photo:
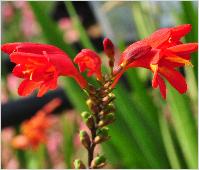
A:
<svg viewBox="0 0 199 170">
<path fill-rule="evenodd" d="M 180 93 L 185 93 L 187 84 L 184 77 L 176 70 L 179 67 L 192 65 L 191 53 L 197 51 L 197 43 L 183 44 L 180 39 L 191 30 L 185 24 L 173 28 L 159 29 L 149 37 L 131 44 L 121 54 L 119 63 L 115 64 L 114 45 L 108 38 L 103 41 L 104 52 L 109 59 L 110 73 L 102 74 L 101 59 L 90 49 L 80 51 L 74 63 L 68 55 L 57 47 L 35 43 L 10 43 L 2 46 L 2 51 L 10 55 L 16 63 L 13 74 L 23 78 L 19 86 L 20 95 L 28 95 L 38 88 L 38 96 L 49 89 L 57 87 L 59 76 L 74 78 L 87 94 L 89 112 L 81 114 L 90 133 L 80 131 L 80 140 L 88 152 L 88 165 L 80 160 L 74 161 L 74 168 L 102 168 L 106 164 L 105 157 L 95 154 L 96 145 L 110 139 L 108 125 L 114 122 L 115 99 L 112 93 L 120 77 L 129 68 L 143 67 L 153 73 L 152 87 L 159 87 L 161 95 L 166 99 L 164 79 Z M 115 66 L 114 66 L 115 65 Z M 88 71 L 87 76 L 95 76 L 99 87 L 86 82 L 81 72 Z"/>
</svg>

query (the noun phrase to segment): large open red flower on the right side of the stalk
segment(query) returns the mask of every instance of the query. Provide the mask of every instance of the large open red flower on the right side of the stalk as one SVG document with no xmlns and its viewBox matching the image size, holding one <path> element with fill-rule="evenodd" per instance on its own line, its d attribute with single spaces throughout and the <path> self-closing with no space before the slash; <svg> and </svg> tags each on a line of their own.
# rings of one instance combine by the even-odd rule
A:
<svg viewBox="0 0 199 170">
<path fill-rule="evenodd" d="M 185 36 L 191 30 L 191 25 L 181 25 L 174 28 L 163 28 L 154 32 L 148 38 L 140 41 L 140 44 L 148 44 L 152 47 L 151 50 L 146 49 L 142 51 L 145 53 L 138 58 L 135 58 L 124 67 L 119 73 L 116 69 L 115 82 L 121 77 L 124 71 L 132 67 L 144 67 L 150 69 L 153 72 L 152 86 L 157 88 L 159 86 L 160 92 L 163 98 L 166 98 L 166 85 L 163 77 L 166 78 L 169 83 L 180 93 L 185 93 L 187 90 L 187 84 L 184 77 L 175 70 L 177 67 L 182 67 L 184 65 L 191 65 L 190 54 L 197 51 L 197 43 L 182 44 L 180 39 Z M 136 46 L 134 44 L 132 47 Z M 131 49 L 129 46 L 127 49 Z M 125 50 L 128 51 L 128 50 Z M 135 53 L 136 49 L 132 48 L 131 53 Z M 127 57 L 126 57 L 127 56 Z M 130 55 L 131 56 L 131 55 Z M 123 53 L 121 61 L 123 58 L 128 58 L 128 53 Z M 119 67 L 123 65 L 120 64 Z"/>
</svg>

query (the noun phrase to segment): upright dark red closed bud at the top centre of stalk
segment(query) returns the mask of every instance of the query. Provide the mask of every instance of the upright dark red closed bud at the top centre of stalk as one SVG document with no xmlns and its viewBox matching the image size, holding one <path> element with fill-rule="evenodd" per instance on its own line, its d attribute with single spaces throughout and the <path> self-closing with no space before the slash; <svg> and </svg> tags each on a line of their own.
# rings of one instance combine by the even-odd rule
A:
<svg viewBox="0 0 199 170">
<path fill-rule="evenodd" d="M 114 51 L 114 45 L 112 41 L 108 38 L 105 38 L 103 41 L 103 46 L 104 46 L 104 52 L 106 53 L 106 55 L 109 58 L 114 58 L 115 51 Z"/>
</svg>

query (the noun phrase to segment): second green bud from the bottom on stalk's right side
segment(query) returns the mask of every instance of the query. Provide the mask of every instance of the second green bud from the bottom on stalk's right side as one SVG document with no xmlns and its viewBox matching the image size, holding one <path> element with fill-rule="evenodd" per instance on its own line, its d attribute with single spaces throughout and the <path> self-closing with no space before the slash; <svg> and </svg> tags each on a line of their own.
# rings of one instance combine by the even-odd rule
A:
<svg viewBox="0 0 199 170">
<path fill-rule="evenodd" d="M 110 139 L 110 136 L 108 136 L 108 127 L 103 127 L 102 129 L 99 129 L 97 132 L 97 136 L 94 139 L 95 144 L 107 141 Z"/>
</svg>

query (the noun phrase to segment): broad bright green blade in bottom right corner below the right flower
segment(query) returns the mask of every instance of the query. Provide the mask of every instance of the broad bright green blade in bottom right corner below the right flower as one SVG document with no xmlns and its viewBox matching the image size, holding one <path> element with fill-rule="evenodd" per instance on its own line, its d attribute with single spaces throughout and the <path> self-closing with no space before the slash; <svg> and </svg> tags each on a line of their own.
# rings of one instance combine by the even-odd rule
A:
<svg viewBox="0 0 199 170">
<path fill-rule="evenodd" d="M 197 168 L 197 126 L 190 110 L 188 97 L 178 94 L 178 92 L 168 84 L 167 100 L 184 158 L 189 168 Z"/>
</svg>

